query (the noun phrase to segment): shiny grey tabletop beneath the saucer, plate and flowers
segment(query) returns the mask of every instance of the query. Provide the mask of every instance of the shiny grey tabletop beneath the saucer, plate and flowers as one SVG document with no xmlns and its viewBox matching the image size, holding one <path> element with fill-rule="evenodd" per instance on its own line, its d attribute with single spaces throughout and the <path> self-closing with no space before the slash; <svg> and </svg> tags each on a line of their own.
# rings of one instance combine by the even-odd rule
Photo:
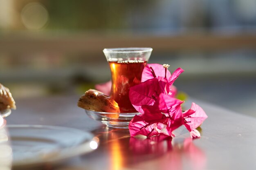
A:
<svg viewBox="0 0 256 170">
<path fill-rule="evenodd" d="M 39 124 L 90 131 L 99 148 L 49 166 L 56 170 L 255 170 L 256 119 L 195 101 L 208 115 L 201 138 L 191 140 L 184 128 L 172 140 L 151 141 L 130 137 L 128 130 L 106 128 L 76 106 L 79 96 L 17 99 L 9 124 Z M 189 103 L 187 101 L 187 103 Z M 40 168 L 42 168 L 41 166 Z"/>
</svg>

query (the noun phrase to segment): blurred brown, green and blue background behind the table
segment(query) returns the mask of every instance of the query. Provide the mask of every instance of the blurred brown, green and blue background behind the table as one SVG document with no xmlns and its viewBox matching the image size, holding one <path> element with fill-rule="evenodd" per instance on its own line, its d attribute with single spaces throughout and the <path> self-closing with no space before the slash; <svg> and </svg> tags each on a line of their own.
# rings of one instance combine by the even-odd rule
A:
<svg viewBox="0 0 256 170">
<path fill-rule="evenodd" d="M 191 98 L 256 117 L 256 0 L 0 0 L 0 83 L 15 98 L 82 95 L 102 50 L 152 47 Z"/>
</svg>

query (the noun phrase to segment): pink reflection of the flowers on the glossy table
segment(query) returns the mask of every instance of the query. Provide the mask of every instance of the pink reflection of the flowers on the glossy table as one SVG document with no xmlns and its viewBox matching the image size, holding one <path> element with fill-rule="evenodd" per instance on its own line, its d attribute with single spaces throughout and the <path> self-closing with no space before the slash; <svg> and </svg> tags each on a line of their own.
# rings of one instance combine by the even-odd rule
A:
<svg viewBox="0 0 256 170">
<path fill-rule="evenodd" d="M 193 144 L 191 138 L 186 138 L 183 142 L 172 145 L 172 140 L 163 140 L 162 136 L 150 137 L 146 139 L 130 138 L 130 149 L 139 158 L 142 155 L 147 157 L 159 157 L 156 161 L 158 169 L 182 170 L 183 162 L 191 170 L 203 170 L 207 163 L 205 153 Z M 146 162 L 154 167 L 154 161 Z M 138 168 L 139 169 L 139 168 Z"/>
</svg>

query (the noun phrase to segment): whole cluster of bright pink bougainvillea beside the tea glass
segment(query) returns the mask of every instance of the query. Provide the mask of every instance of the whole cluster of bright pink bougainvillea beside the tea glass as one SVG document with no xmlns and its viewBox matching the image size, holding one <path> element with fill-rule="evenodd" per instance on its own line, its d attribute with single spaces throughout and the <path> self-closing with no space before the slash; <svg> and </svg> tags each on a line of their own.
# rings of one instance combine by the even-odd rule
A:
<svg viewBox="0 0 256 170">
<path fill-rule="evenodd" d="M 191 108 L 182 114 L 183 101 L 173 97 L 171 86 L 184 70 L 177 68 L 171 74 L 167 68 L 167 65 L 163 69 L 160 64 L 148 64 L 142 73 L 142 83 L 130 88 L 129 97 L 132 106 L 141 113 L 130 121 L 131 136 L 174 137 L 173 130 L 184 124 L 191 132 L 191 137 L 200 137 L 200 133 L 195 128 L 202 124 L 207 115 L 195 103 L 192 103 Z"/>
</svg>

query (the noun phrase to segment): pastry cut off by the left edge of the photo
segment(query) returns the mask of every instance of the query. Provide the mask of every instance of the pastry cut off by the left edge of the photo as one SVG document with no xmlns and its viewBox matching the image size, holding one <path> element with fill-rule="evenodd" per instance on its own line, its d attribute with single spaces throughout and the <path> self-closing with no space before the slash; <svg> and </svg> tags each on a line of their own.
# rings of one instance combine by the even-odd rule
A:
<svg viewBox="0 0 256 170">
<path fill-rule="evenodd" d="M 11 95 L 9 88 L 0 84 L 0 111 L 6 109 L 16 110 L 15 101 Z"/>
</svg>

